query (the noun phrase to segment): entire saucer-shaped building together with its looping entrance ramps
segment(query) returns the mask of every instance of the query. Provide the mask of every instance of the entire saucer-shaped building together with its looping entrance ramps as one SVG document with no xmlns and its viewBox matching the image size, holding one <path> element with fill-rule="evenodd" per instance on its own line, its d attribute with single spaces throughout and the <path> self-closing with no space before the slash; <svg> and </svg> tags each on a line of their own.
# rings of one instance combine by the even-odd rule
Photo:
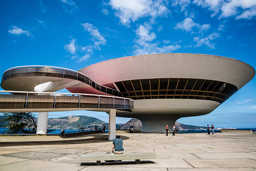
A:
<svg viewBox="0 0 256 171">
<path fill-rule="evenodd" d="M 143 132 L 163 133 L 166 125 L 172 127 L 181 117 L 212 112 L 254 75 L 255 70 L 242 61 L 203 54 L 127 56 L 92 64 L 79 71 L 53 66 L 20 66 L 5 71 L 1 82 L 3 89 L 55 92 L 66 88 L 74 94 L 98 94 L 99 97 L 91 100 L 80 95 L 27 95 L 18 99 L 18 95 L 10 98 L 2 95 L 0 111 L 115 109 L 116 116 L 141 120 Z M 16 109 L 7 107 L 13 104 Z"/>
</svg>

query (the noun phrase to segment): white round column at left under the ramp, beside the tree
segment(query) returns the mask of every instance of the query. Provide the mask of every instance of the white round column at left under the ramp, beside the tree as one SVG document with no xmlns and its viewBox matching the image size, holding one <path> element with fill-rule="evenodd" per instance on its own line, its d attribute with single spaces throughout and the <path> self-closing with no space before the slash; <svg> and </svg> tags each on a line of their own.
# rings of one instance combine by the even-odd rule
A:
<svg viewBox="0 0 256 171">
<path fill-rule="evenodd" d="M 38 112 L 37 128 L 36 128 L 37 134 L 47 133 L 48 114 L 49 112 Z"/>
</svg>

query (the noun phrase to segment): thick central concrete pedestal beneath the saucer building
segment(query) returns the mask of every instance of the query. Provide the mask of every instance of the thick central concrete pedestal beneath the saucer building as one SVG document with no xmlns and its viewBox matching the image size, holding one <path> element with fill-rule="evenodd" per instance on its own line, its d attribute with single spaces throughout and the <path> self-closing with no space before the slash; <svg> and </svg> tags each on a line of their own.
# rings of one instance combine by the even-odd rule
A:
<svg viewBox="0 0 256 171">
<path fill-rule="evenodd" d="M 141 120 L 142 132 L 145 133 L 166 133 L 166 125 L 169 127 L 169 132 L 172 133 L 172 126 L 178 119 L 172 115 L 141 115 L 137 118 Z"/>
</svg>

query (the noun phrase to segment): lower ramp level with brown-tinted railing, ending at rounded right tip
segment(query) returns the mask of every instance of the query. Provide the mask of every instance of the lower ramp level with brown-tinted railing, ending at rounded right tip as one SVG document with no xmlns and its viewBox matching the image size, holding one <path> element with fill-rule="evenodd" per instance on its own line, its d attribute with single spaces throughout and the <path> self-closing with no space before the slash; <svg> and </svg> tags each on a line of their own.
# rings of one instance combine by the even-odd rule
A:
<svg viewBox="0 0 256 171">
<path fill-rule="evenodd" d="M 96 94 L 0 91 L 0 112 L 54 112 L 70 110 L 133 109 L 132 99 Z"/>
</svg>

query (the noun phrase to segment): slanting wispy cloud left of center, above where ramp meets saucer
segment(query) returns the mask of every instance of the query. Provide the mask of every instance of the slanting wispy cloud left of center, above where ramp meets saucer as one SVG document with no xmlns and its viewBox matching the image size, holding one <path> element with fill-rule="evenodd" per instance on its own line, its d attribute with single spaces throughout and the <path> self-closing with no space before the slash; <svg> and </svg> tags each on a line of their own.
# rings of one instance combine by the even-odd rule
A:
<svg viewBox="0 0 256 171">
<path fill-rule="evenodd" d="M 92 41 L 94 42 L 93 47 L 101 50 L 100 45 L 105 45 L 107 41 L 103 36 L 101 36 L 99 30 L 90 23 L 84 23 L 81 25 L 84 27 L 84 31 L 88 31 L 92 36 Z"/>
</svg>

